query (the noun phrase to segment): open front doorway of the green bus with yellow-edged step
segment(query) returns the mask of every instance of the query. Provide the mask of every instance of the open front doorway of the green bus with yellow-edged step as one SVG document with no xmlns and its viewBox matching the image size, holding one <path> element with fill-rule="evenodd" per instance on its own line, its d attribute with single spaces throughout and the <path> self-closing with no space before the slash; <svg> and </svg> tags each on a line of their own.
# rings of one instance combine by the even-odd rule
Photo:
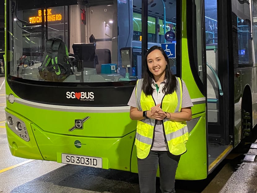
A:
<svg viewBox="0 0 257 193">
<path fill-rule="evenodd" d="M 205 0 L 209 172 L 232 149 L 233 82 L 230 80 L 227 1 Z M 231 91 L 232 90 L 232 91 Z M 230 116 L 230 117 L 229 117 Z M 224 154 L 225 153 L 225 154 Z M 224 156 L 221 156 L 224 157 Z"/>
</svg>

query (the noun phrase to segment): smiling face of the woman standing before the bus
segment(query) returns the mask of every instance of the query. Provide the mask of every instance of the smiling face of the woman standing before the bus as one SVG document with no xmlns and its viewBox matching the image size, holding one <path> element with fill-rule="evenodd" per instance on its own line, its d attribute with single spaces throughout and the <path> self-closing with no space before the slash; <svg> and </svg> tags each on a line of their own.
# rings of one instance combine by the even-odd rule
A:
<svg viewBox="0 0 257 193">
<path fill-rule="evenodd" d="M 158 49 L 153 50 L 146 57 L 148 69 L 153 74 L 155 82 L 163 81 L 165 79 L 165 69 L 167 61 L 162 52 Z"/>
</svg>

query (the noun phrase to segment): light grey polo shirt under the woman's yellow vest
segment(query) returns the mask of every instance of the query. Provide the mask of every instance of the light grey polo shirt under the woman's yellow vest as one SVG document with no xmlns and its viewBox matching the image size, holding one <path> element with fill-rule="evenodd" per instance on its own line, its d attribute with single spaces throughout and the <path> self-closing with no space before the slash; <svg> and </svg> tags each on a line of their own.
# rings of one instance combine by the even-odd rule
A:
<svg viewBox="0 0 257 193">
<path fill-rule="evenodd" d="M 183 80 L 181 82 L 182 82 L 182 88 L 183 88 L 182 89 L 183 91 L 182 91 L 182 106 L 181 106 L 181 108 L 191 107 L 191 106 L 193 106 L 193 103 L 190 99 L 185 82 Z M 164 80 L 163 82 L 160 83 L 158 93 L 157 93 L 157 90 L 155 87 L 155 84 L 156 84 L 155 81 L 153 81 L 153 83 L 152 83 L 152 88 L 154 89 L 153 90 L 153 98 L 156 102 L 156 105 L 160 104 L 162 101 L 162 98 L 164 96 L 162 89 L 163 89 L 165 83 L 166 83 L 166 80 Z M 132 95 L 129 99 L 128 105 L 137 108 L 136 87 L 134 88 L 134 90 L 132 92 Z M 165 141 L 165 138 L 164 138 L 163 125 L 162 125 L 161 121 L 157 121 L 157 124 L 155 126 L 154 144 L 153 144 L 151 150 L 156 150 L 156 151 L 167 151 L 168 150 L 167 142 Z"/>
</svg>

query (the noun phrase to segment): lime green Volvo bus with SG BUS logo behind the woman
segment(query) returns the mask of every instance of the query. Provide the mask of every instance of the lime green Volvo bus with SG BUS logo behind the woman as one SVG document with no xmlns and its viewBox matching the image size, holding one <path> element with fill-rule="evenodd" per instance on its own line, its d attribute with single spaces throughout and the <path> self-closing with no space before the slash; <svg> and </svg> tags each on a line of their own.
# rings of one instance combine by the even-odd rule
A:
<svg viewBox="0 0 257 193">
<path fill-rule="evenodd" d="M 257 0 L 5 0 L 12 155 L 137 173 L 127 103 L 158 45 L 194 104 L 176 179 L 206 178 L 257 123 L 256 10 Z"/>
</svg>

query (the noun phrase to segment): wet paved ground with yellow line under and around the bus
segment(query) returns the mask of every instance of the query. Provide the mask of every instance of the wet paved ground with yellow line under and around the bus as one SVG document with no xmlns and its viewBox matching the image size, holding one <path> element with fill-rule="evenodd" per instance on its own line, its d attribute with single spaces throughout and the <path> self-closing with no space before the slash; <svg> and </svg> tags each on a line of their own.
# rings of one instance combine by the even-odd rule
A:
<svg viewBox="0 0 257 193">
<path fill-rule="evenodd" d="M 12 156 L 4 123 L 3 81 L 4 78 L 0 77 L 0 193 L 139 192 L 138 176 L 135 173 Z M 176 193 L 257 193 L 257 143 L 251 145 L 256 141 L 256 136 L 243 151 L 232 152 L 207 179 L 176 180 Z M 160 193 L 158 180 L 156 192 Z"/>
</svg>

